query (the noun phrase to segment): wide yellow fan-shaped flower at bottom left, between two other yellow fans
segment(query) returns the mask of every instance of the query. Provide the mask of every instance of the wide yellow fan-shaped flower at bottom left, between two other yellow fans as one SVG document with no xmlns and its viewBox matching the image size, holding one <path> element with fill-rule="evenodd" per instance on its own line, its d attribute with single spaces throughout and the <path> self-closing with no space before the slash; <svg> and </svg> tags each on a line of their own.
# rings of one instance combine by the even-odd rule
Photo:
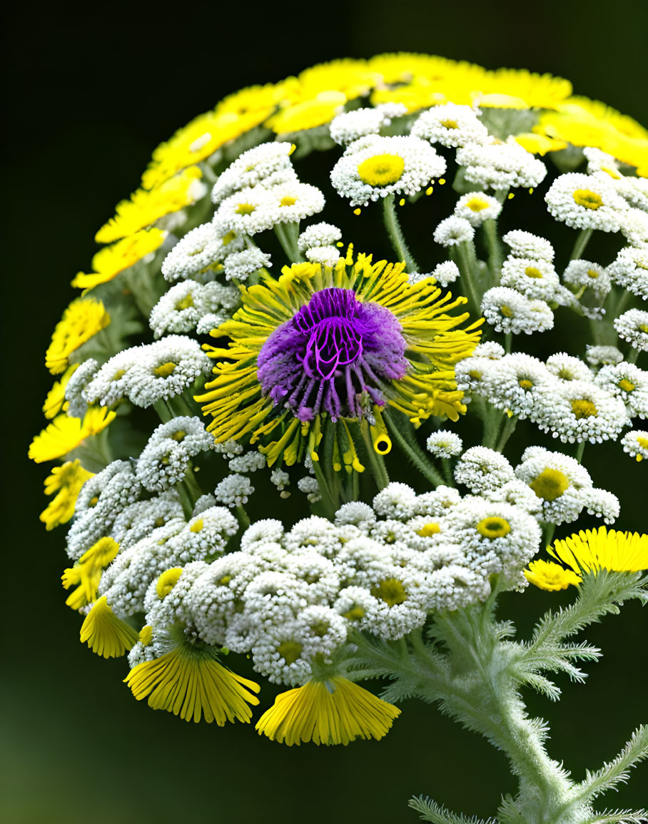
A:
<svg viewBox="0 0 648 824">
<path fill-rule="evenodd" d="M 252 693 L 259 685 L 248 681 L 217 660 L 210 648 L 181 647 L 134 667 L 124 678 L 137 700 L 148 697 L 148 706 L 166 709 L 185 721 L 248 722 L 250 705 L 259 699 Z"/>
</svg>

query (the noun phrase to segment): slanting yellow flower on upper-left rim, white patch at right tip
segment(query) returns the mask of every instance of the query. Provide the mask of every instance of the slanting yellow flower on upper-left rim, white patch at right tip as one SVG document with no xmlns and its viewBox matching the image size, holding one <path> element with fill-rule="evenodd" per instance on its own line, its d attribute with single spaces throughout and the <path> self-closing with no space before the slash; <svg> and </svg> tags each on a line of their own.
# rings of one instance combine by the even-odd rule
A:
<svg viewBox="0 0 648 824">
<path fill-rule="evenodd" d="M 96 233 L 96 242 L 112 243 L 120 237 L 134 235 L 164 215 L 195 203 L 204 191 L 203 185 L 198 182 L 202 176 L 198 166 L 190 166 L 155 189 L 138 189 L 128 200 L 117 204 L 115 217 L 110 218 Z"/>
</svg>

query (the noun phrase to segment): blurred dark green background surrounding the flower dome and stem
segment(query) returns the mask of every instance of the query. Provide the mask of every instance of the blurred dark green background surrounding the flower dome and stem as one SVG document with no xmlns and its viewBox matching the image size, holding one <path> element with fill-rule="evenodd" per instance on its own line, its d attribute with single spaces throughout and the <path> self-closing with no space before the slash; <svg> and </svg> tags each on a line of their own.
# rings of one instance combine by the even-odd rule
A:
<svg viewBox="0 0 648 824">
<path fill-rule="evenodd" d="M 43 426 L 51 385 L 43 357 L 73 297 L 68 283 L 153 148 L 191 117 L 237 88 L 314 63 L 406 50 L 568 77 L 577 93 L 648 124 L 646 31 L 646 0 L 13 8 L 2 157 L 3 822 L 382 824 L 416 821 L 405 806 L 411 794 L 488 817 L 514 790 L 500 753 L 415 701 L 382 742 L 330 748 L 282 747 L 251 727 L 188 724 L 136 702 L 121 683 L 124 660 L 106 662 L 79 644 L 78 616 L 60 587 L 63 535 L 38 520 L 47 471 L 29 465 L 26 451 Z M 645 467 L 619 447 L 595 448 L 594 482 L 614 478 L 610 488 L 622 490 L 621 527 L 646 531 Z M 568 597 L 532 588 L 503 599 L 501 614 L 524 634 Z M 587 686 L 561 682 L 558 705 L 528 696 L 552 725 L 550 753 L 577 778 L 647 720 L 647 630 L 648 610 L 628 604 L 585 634 L 605 653 L 588 667 Z M 606 804 L 648 805 L 648 767 Z"/>
</svg>

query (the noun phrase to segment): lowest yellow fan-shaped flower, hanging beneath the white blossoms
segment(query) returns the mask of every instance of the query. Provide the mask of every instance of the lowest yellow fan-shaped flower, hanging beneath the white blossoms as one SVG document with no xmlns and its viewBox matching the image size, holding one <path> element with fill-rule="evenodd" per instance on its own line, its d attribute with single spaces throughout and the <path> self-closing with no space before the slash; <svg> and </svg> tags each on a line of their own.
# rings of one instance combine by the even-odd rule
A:
<svg viewBox="0 0 648 824">
<path fill-rule="evenodd" d="M 363 687 L 334 677 L 308 681 L 295 690 L 277 695 L 275 704 L 259 719 L 256 729 L 289 747 L 312 741 L 348 744 L 356 738 L 386 735 L 401 710 L 380 700 Z"/>
</svg>

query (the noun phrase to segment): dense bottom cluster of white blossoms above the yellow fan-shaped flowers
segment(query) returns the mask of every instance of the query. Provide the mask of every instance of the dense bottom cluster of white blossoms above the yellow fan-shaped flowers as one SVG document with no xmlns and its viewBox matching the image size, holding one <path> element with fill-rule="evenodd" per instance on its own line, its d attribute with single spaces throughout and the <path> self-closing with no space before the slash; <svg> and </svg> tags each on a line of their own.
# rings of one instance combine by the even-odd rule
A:
<svg viewBox="0 0 648 824">
<path fill-rule="evenodd" d="M 483 601 L 493 574 L 507 588 L 523 587 L 521 570 L 538 550 L 540 528 L 517 497 L 510 503 L 505 484 L 488 497 L 462 498 L 450 487 L 417 495 L 392 483 L 371 506 L 344 504 L 333 522 L 312 516 L 289 530 L 275 519 L 256 522 L 239 550 L 210 563 L 192 554 L 170 592 L 162 578 L 151 578 L 143 602 L 152 638 L 134 647 L 131 664 L 165 652 L 170 627 L 181 624 L 187 637 L 249 654 L 270 681 L 303 683 L 314 662 L 348 653 L 355 631 L 401 638 L 430 611 Z M 224 522 L 220 528 L 227 533 Z M 173 559 L 177 529 L 174 523 L 155 536 Z M 128 563 L 139 569 L 138 552 L 148 557 L 151 546 L 131 548 Z M 101 590 L 114 610 L 129 608 L 113 574 Z M 141 603 L 139 577 L 132 591 Z"/>
</svg>

